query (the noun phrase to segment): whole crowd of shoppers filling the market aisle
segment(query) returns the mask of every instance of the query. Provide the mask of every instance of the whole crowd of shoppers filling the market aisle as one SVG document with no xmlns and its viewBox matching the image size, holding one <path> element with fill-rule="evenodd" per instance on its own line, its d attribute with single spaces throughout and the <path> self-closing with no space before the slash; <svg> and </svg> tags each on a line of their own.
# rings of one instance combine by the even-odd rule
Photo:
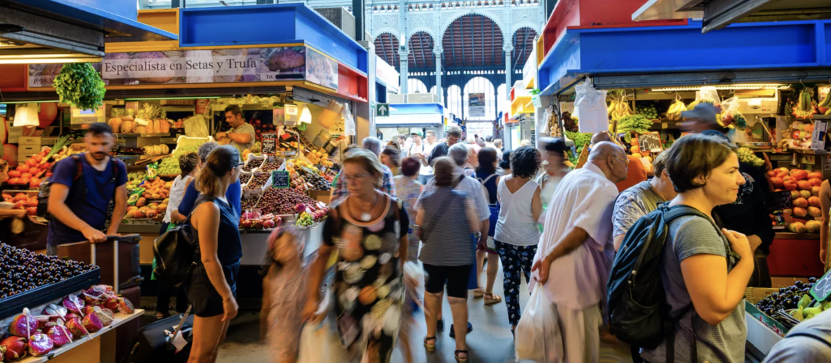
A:
<svg viewBox="0 0 831 363">
<path fill-rule="evenodd" d="M 228 111 L 229 122 L 238 123 L 234 109 Z M 469 290 L 485 305 L 504 299 L 514 332 L 523 315 L 519 301 L 525 276 L 528 291 L 545 294 L 556 320 L 557 338 L 546 344 L 562 347 L 564 362 L 601 361 L 604 314 L 612 309 L 606 287 L 616 251 L 627 248 L 627 236 L 643 216 L 686 206 L 701 215 L 668 222 L 661 252 L 662 299 L 675 323 L 658 346 L 632 346 L 632 361 L 744 361 L 745 288 L 770 286 L 764 257 L 772 232 L 770 225 L 755 223 L 755 215 L 767 210 L 767 188 L 761 184 L 764 176 L 741 164 L 735 146 L 707 123 L 707 106 L 694 111 L 685 117 L 698 134 L 681 137 L 657 154 L 649 180 L 641 160 L 628 157 L 607 133 L 593 137 L 588 158 L 571 171 L 563 139 L 542 138 L 537 148 L 509 151 L 489 138 L 460 143 L 464 133 L 455 126 L 446 131 L 445 143 L 428 132 L 424 140 L 412 134 L 412 143 L 401 135 L 383 148 L 377 138 L 363 139 L 362 148 L 347 148 L 316 258 L 303 258 L 302 240 L 290 227 L 269 236 L 261 329 L 272 359 L 297 361 L 302 324 L 329 319 L 344 348 L 338 361 L 391 361 L 400 340 L 411 363 L 407 341 L 416 332 L 416 307 L 422 300 L 423 343 L 435 351 L 446 295 L 454 358 L 466 362 L 473 329 Z M 89 150 L 58 162 L 50 179 L 52 254 L 59 244 L 115 235 L 125 212 L 126 170 L 106 153 L 114 144 L 111 129 L 92 124 L 85 141 Z M 167 224 L 188 225 L 196 237 L 195 265 L 182 290 L 160 290 L 157 312 L 169 315 L 174 293 L 180 294 L 177 302 L 192 305 L 191 362 L 216 361 L 217 347 L 238 312 L 242 165 L 238 148 L 204 143 L 199 152 L 180 157 L 182 173 L 170 191 L 160 233 Z M 7 164 L 0 163 L 0 180 L 6 172 Z M 111 202 L 116 212 L 105 233 Z M 0 217 L 15 215 L 0 210 Z M 322 290 L 334 256 L 331 290 Z M 406 277 L 408 261 L 423 264 L 423 296 L 415 294 L 418 282 Z M 504 297 L 494 293 L 500 262 Z M 485 264 L 483 284 L 479 275 Z M 331 304 L 321 306 L 327 293 Z M 822 325 L 829 319 L 826 312 L 814 317 L 811 327 L 800 325 L 766 361 L 823 360 L 828 351 L 798 332 L 831 335 Z"/>
</svg>

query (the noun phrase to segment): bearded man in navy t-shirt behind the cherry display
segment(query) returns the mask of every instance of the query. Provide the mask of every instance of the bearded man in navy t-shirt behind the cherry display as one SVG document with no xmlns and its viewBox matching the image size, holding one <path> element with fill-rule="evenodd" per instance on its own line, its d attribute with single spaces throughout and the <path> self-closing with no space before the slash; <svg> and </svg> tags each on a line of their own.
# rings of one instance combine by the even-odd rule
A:
<svg viewBox="0 0 831 363">
<path fill-rule="evenodd" d="M 54 166 L 49 177 L 49 223 L 47 253 L 57 254 L 59 244 L 88 240 L 103 242 L 116 235 L 127 209 L 127 167 L 111 157 L 116 143 L 106 123 L 92 123 L 84 135 L 86 152 L 67 157 Z M 106 225 L 110 202 L 116 207 L 110 227 Z"/>
</svg>

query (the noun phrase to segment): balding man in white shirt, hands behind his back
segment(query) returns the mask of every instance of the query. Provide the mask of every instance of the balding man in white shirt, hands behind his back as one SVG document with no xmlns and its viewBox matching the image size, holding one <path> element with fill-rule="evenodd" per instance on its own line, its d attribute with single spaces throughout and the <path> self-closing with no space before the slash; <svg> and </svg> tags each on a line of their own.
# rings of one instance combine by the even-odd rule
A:
<svg viewBox="0 0 831 363">
<path fill-rule="evenodd" d="M 627 177 L 628 160 L 614 143 L 597 143 L 586 165 L 563 177 L 545 212 L 529 291 L 542 283 L 553 304 L 562 341 L 547 343 L 563 346 L 563 362 L 600 361 L 600 304 L 615 251 L 615 183 Z"/>
</svg>

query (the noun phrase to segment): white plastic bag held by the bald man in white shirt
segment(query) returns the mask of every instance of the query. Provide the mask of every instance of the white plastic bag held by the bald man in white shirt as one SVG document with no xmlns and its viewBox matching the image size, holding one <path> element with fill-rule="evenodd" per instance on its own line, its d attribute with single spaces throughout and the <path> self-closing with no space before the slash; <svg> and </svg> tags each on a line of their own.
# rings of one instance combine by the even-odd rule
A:
<svg viewBox="0 0 831 363">
<path fill-rule="evenodd" d="M 537 283 L 528 307 L 519 319 L 514 339 L 516 360 L 559 363 L 563 361 L 563 338 L 553 304 Z"/>
</svg>

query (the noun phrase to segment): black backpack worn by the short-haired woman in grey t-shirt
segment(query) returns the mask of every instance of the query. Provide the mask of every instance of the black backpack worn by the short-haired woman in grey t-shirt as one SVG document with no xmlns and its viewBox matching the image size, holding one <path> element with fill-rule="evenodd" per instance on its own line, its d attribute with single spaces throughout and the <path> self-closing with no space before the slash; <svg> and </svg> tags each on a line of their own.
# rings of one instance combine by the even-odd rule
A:
<svg viewBox="0 0 831 363">
<path fill-rule="evenodd" d="M 655 211 L 642 216 L 627 231 L 607 283 L 610 332 L 620 341 L 647 349 L 656 348 L 666 338 L 668 362 L 675 358 L 675 324 L 692 309 L 692 303 L 681 309 L 677 317 L 670 316 L 661 282 L 661 263 L 669 223 L 685 215 L 696 215 L 712 223 L 695 208 L 659 204 Z M 715 224 L 713 227 L 719 230 Z M 693 361 L 697 360 L 695 333 L 694 328 Z"/>
</svg>

